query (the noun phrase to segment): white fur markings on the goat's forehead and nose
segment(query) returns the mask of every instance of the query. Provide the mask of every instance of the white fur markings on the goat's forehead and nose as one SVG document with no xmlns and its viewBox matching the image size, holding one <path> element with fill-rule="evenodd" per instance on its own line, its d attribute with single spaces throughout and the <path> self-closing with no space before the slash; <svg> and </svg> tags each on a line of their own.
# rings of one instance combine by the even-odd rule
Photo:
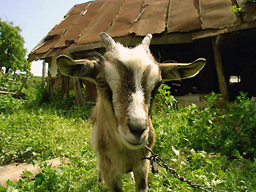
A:
<svg viewBox="0 0 256 192">
<path fill-rule="evenodd" d="M 134 74 L 135 80 L 135 93 L 132 93 L 132 102 L 127 109 L 129 118 L 146 120 L 146 112 L 144 110 L 144 93 L 141 86 L 141 80 L 143 78 L 143 72 L 148 67 L 151 68 L 148 74 L 148 90 L 153 90 L 155 82 L 159 78 L 159 68 L 154 60 L 151 59 L 151 55 L 147 53 L 144 47 L 138 46 L 135 48 L 124 47 L 121 44 L 116 44 L 116 49 L 113 50 L 111 57 L 118 59 L 124 66 L 131 69 Z M 116 66 L 106 62 L 106 80 L 113 91 L 113 107 L 115 115 L 121 114 L 121 104 L 118 102 L 118 89 L 121 85 L 121 77 L 119 77 L 118 69 Z M 149 104 L 147 104 L 149 107 Z"/>
</svg>

